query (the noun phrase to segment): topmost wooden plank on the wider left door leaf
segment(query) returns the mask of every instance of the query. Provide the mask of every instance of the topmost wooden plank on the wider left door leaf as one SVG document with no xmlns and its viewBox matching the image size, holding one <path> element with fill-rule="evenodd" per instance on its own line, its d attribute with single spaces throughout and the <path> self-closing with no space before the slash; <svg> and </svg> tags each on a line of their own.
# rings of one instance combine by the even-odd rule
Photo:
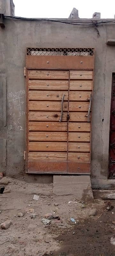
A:
<svg viewBox="0 0 115 256">
<path fill-rule="evenodd" d="M 69 79 L 69 71 L 65 70 L 28 70 L 30 79 Z"/>
</svg>

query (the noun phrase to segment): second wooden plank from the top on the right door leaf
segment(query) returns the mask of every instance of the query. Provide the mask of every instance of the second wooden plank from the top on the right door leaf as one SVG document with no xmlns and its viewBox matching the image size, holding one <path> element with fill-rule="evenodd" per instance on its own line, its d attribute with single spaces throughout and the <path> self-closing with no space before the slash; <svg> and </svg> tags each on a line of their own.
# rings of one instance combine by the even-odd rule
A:
<svg viewBox="0 0 115 256">
<path fill-rule="evenodd" d="M 91 91 L 93 81 L 84 80 L 70 80 L 70 91 Z"/>
</svg>

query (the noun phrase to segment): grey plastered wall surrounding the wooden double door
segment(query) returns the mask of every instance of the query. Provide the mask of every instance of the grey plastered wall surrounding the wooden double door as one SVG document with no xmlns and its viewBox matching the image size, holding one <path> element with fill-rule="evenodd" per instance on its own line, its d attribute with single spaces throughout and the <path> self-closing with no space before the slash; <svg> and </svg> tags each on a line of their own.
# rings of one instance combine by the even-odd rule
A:
<svg viewBox="0 0 115 256">
<path fill-rule="evenodd" d="M 0 29 L 3 52 L 0 52 L 0 75 L 6 78 L 7 125 L 6 174 L 16 177 L 25 172 L 26 150 L 26 47 L 94 47 L 95 72 L 92 110 L 91 176 L 107 179 L 112 72 L 115 72 L 115 47 L 107 46 L 115 38 L 115 25 L 77 26 L 51 21 L 5 19 Z M 16 96 L 21 97 L 16 99 Z M 3 102 L 5 104 L 3 96 Z M 4 117 L 3 117 L 4 119 Z M 104 121 L 102 121 L 104 119 Z M 4 135 L 1 133 L 1 139 Z"/>
</svg>

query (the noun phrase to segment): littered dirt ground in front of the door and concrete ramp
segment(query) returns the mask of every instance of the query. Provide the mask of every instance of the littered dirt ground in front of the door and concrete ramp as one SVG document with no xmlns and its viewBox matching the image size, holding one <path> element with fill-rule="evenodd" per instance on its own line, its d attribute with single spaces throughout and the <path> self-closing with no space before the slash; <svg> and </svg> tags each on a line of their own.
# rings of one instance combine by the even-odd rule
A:
<svg viewBox="0 0 115 256">
<path fill-rule="evenodd" d="M 8 229 L 0 229 L 1 256 L 114 256 L 115 201 L 94 200 L 83 204 L 73 196 L 53 195 L 53 184 L 27 183 L 8 179 L 0 195 L 0 220 L 11 220 Z M 39 195 L 38 200 L 33 196 Z M 77 201 L 70 203 L 69 201 Z M 112 205 L 108 211 L 106 207 Z M 81 208 L 81 207 L 86 208 Z M 35 219 L 31 219 L 34 209 Z M 96 209 L 95 216 L 89 216 Z M 18 217 L 22 212 L 23 216 Z M 42 218 L 53 214 L 44 225 Z M 76 224 L 70 221 L 76 220 Z"/>
</svg>

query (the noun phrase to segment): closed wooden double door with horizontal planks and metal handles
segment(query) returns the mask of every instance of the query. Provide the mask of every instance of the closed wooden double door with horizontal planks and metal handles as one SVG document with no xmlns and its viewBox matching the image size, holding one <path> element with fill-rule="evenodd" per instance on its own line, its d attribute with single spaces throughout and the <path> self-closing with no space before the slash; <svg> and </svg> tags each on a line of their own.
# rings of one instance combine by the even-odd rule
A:
<svg viewBox="0 0 115 256">
<path fill-rule="evenodd" d="M 90 173 L 93 70 L 27 69 L 29 173 Z"/>
</svg>

